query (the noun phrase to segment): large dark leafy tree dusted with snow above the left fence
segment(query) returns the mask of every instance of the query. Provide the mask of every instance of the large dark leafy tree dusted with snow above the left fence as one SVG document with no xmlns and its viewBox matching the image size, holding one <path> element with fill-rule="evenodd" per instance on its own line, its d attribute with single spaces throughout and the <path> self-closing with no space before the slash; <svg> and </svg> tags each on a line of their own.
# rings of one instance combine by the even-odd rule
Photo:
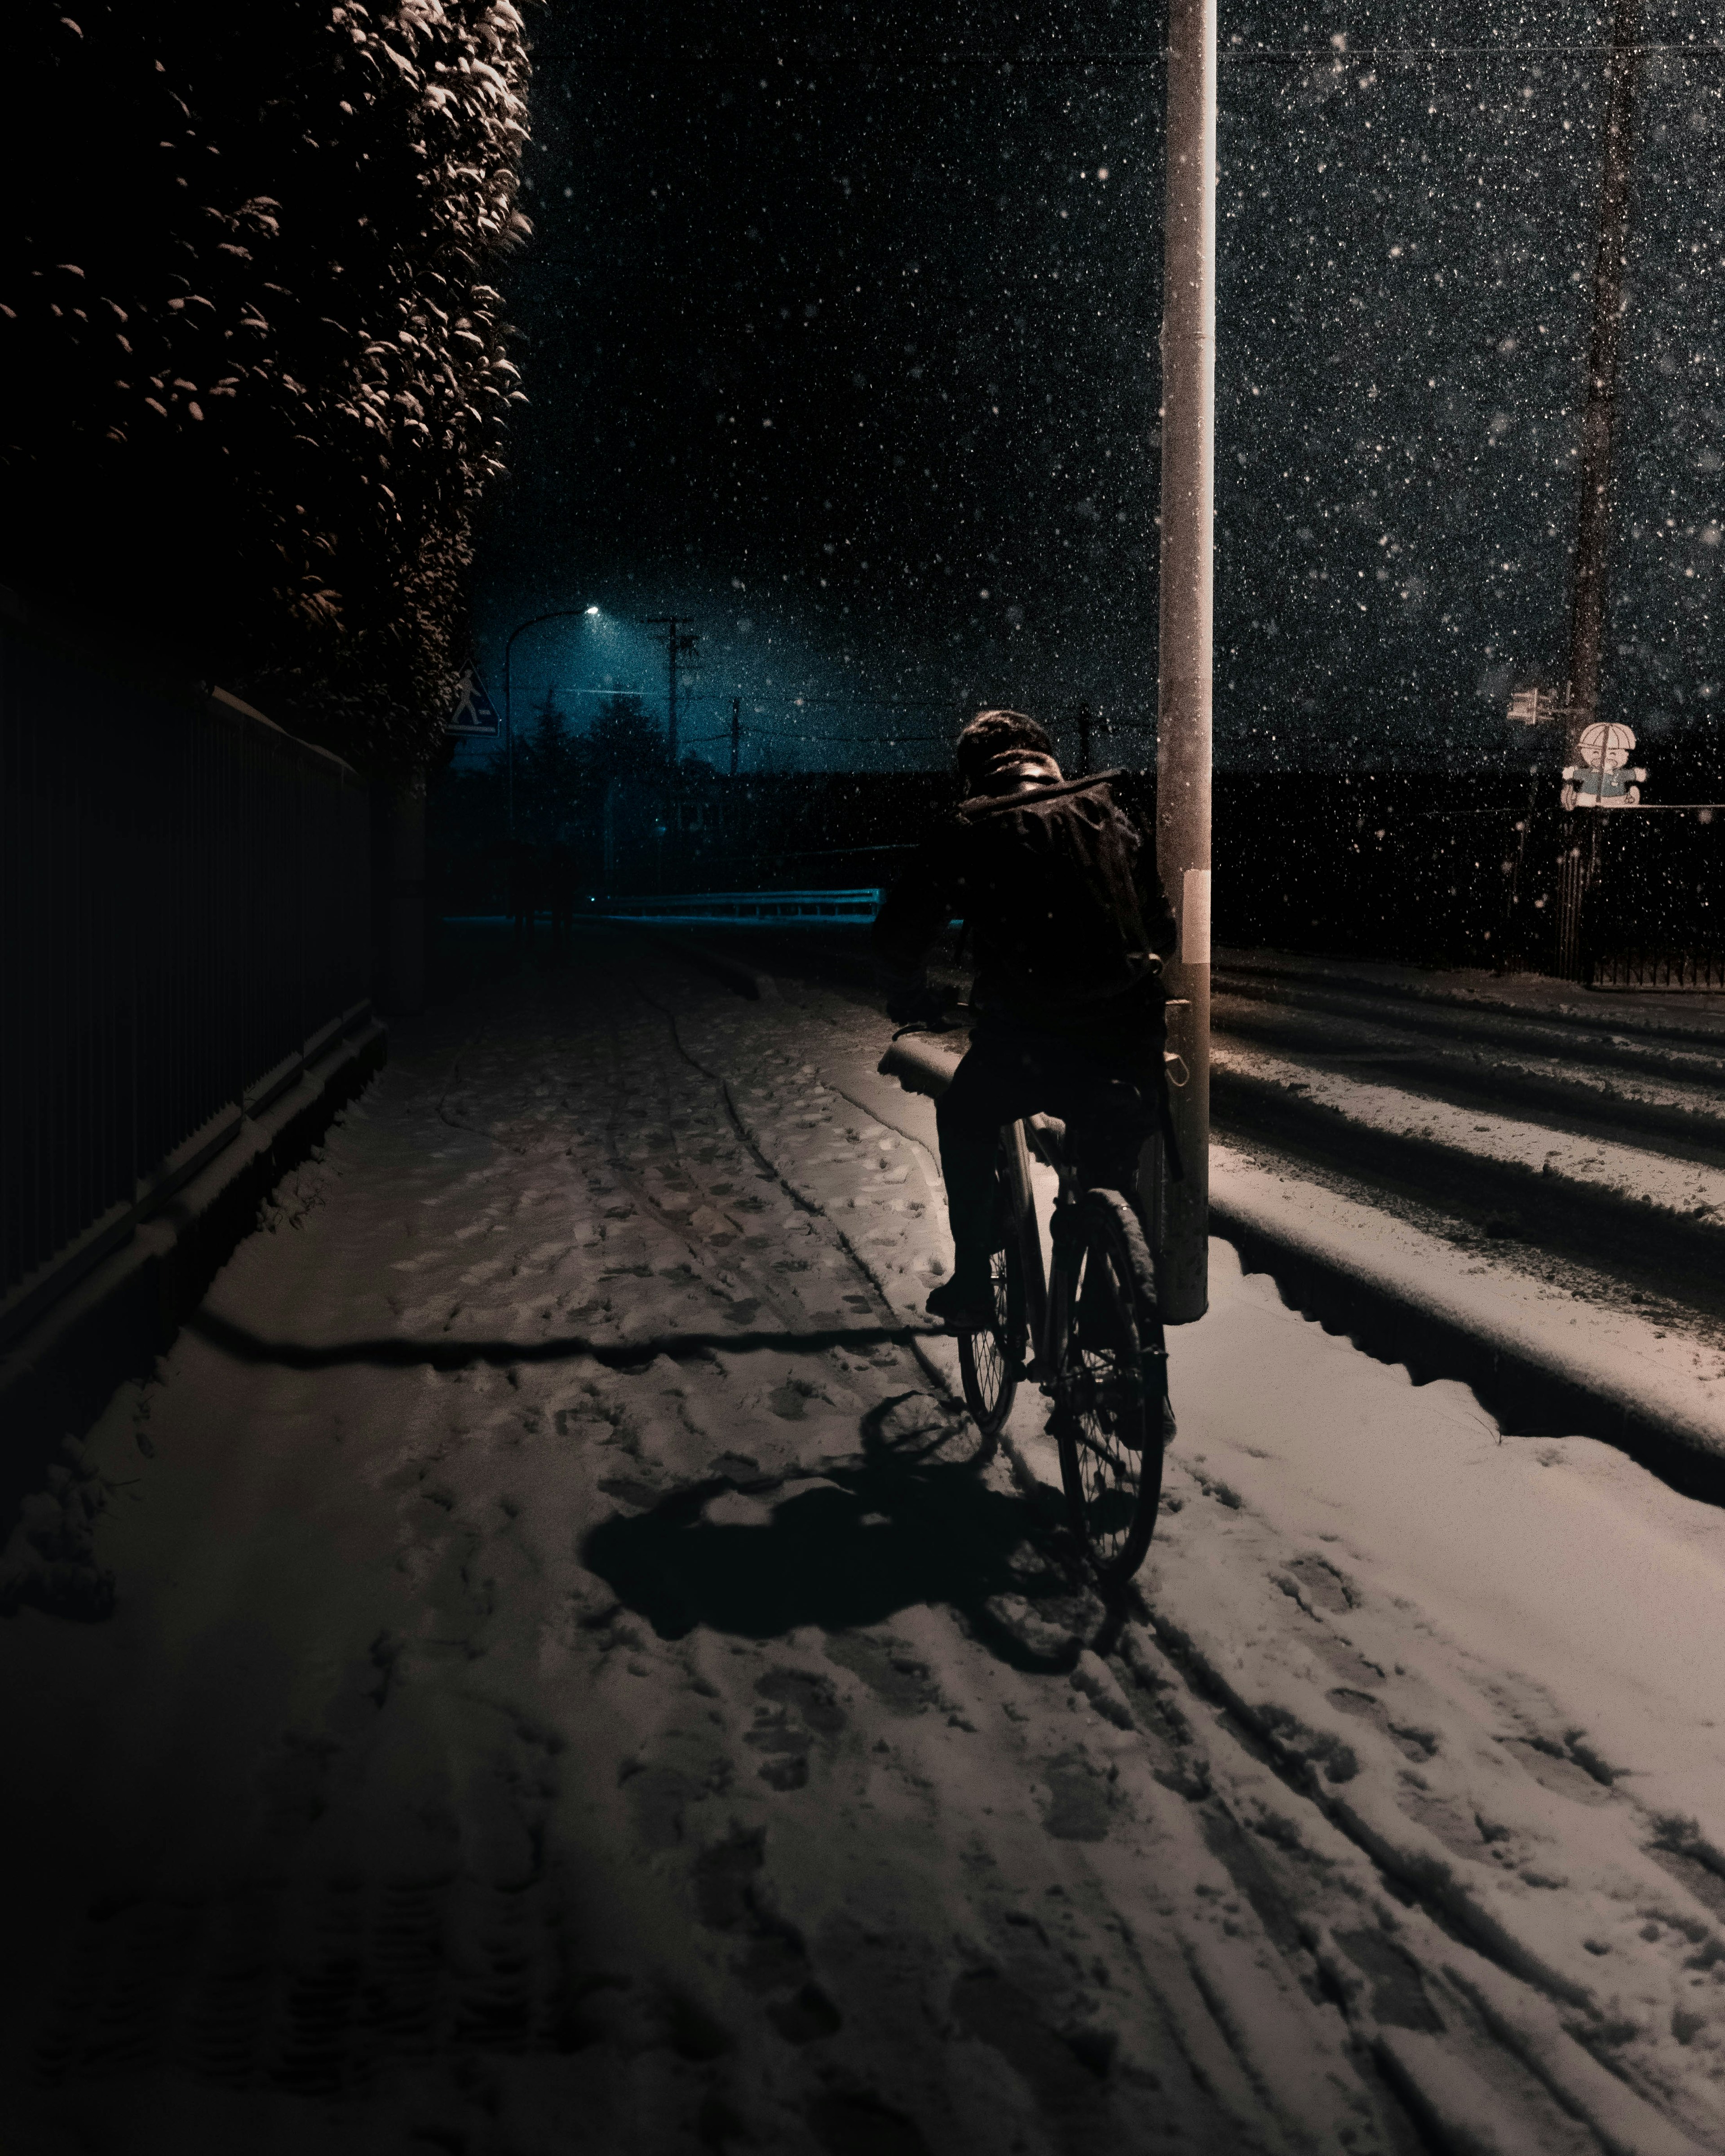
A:
<svg viewBox="0 0 1725 2156">
<path fill-rule="evenodd" d="M 509 0 L 24 0 L 0 573 L 364 770 L 433 748 L 515 369 Z"/>
</svg>

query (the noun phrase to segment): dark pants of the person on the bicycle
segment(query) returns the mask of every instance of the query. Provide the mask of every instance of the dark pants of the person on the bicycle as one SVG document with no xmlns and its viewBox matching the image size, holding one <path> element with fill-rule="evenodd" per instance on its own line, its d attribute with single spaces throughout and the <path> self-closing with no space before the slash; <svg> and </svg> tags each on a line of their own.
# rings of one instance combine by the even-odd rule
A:
<svg viewBox="0 0 1725 2156">
<path fill-rule="evenodd" d="M 934 1117 L 953 1225 L 953 1272 L 988 1270 L 996 1244 L 994 1153 L 1000 1125 L 1054 1115 L 1067 1125 L 1078 1175 L 1089 1186 L 1136 1188 L 1138 1151 L 1158 1123 L 1160 1028 L 1136 1037 L 1039 1033 L 985 1022 L 970 1041 Z"/>
</svg>

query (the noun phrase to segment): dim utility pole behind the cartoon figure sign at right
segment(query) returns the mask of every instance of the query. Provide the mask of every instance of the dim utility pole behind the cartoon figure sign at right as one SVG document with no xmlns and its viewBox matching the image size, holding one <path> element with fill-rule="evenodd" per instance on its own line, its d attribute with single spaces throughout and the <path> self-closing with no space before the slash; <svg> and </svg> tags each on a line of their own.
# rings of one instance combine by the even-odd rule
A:
<svg viewBox="0 0 1725 2156">
<path fill-rule="evenodd" d="M 1611 548 L 1611 451 L 1617 431 L 1617 360 L 1624 341 L 1624 254 L 1630 231 L 1630 155 L 1634 149 L 1634 75 L 1641 0 L 1617 0 L 1611 56 L 1604 65 L 1604 172 L 1600 177 L 1600 252 L 1593 259 L 1593 330 L 1587 341 L 1587 395 L 1581 410 L 1581 479 L 1576 500 L 1576 567 L 1570 610 L 1570 703 L 1565 763 L 1578 761 L 1583 727 L 1600 716 L 1604 655 L 1606 554 Z M 1557 877 L 1557 970 L 1581 979 L 1581 906 L 1598 852 L 1598 819 L 1585 852 L 1570 841 Z"/>
</svg>

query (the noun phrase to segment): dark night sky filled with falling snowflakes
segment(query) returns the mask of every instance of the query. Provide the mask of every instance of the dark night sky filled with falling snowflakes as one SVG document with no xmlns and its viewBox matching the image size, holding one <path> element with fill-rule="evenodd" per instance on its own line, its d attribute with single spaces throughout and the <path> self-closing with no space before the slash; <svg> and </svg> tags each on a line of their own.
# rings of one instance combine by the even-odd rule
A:
<svg viewBox="0 0 1725 2156">
<path fill-rule="evenodd" d="M 1216 752 L 1475 770 L 1561 679 L 1604 6 L 1223 9 Z M 1000 24 L 1013 24 L 1007 37 Z M 479 660 L 684 740 L 932 763 L 979 703 L 1154 755 L 1162 17 L 552 6 L 530 395 Z M 1645 39 L 1716 37 L 1647 0 Z M 1436 47 L 1436 50 L 1434 50 Z M 1606 709 L 1725 692 L 1725 54 L 1643 63 Z M 802 705 L 796 699 L 802 696 Z M 1650 789 L 1652 791 L 1652 789 Z"/>
</svg>

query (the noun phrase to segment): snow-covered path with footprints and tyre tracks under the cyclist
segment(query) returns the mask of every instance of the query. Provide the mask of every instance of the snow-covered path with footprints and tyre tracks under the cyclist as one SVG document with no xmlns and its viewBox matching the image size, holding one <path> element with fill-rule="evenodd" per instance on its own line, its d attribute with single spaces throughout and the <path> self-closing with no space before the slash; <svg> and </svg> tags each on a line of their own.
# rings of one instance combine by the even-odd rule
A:
<svg viewBox="0 0 1725 2156">
<path fill-rule="evenodd" d="M 401 1031 L 0 1628 L 6 2156 L 1725 2150 L 1721 1516 L 1216 1244 L 1104 1621 L 882 1044 L 625 931 Z"/>
</svg>

